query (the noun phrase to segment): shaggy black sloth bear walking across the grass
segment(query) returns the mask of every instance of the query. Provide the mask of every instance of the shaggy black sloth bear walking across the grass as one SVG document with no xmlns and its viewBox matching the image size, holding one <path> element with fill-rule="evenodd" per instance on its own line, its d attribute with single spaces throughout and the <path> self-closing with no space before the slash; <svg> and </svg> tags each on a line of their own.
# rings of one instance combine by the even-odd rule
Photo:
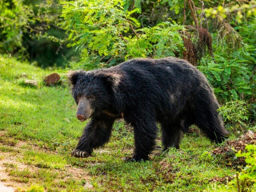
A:
<svg viewBox="0 0 256 192">
<path fill-rule="evenodd" d="M 125 161 L 148 160 L 155 148 L 157 122 L 163 151 L 179 148 L 182 132 L 196 124 L 216 143 L 228 135 L 218 102 L 205 76 L 185 60 L 132 59 L 108 69 L 70 71 L 67 75 L 80 121 L 90 118 L 72 152 L 85 158 L 103 146 L 112 125 L 123 117 L 133 126 L 134 152 Z"/>
</svg>

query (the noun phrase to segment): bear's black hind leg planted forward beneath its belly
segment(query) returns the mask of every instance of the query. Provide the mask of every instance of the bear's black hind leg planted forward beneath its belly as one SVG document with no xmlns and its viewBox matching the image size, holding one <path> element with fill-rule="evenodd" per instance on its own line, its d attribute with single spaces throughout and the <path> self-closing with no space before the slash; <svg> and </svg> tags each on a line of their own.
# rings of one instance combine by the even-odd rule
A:
<svg viewBox="0 0 256 192">
<path fill-rule="evenodd" d="M 180 123 L 163 122 L 161 123 L 163 151 L 170 147 L 179 149 L 182 129 Z"/>
</svg>

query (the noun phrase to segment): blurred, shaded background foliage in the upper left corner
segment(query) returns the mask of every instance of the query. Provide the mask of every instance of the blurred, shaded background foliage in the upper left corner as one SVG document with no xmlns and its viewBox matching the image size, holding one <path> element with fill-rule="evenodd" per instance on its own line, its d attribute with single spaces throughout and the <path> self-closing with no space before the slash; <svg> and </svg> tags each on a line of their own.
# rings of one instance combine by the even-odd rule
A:
<svg viewBox="0 0 256 192">
<path fill-rule="evenodd" d="M 36 61 L 40 67 L 66 66 L 73 49 L 66 48 L 60 29 L 62 0 L 1 0 L 0 53 Z"/>
</svg>

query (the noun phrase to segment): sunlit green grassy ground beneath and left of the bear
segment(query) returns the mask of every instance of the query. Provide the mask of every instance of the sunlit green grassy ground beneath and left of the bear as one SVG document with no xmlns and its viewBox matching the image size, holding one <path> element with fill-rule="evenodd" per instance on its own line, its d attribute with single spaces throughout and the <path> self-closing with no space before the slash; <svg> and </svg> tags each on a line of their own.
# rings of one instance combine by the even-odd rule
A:
<svg viewBox="0 0 256 192">
<path fill-rule="evenodd" d="M 23 73 L 26 77 L 21 77 Z M 67 87 L 43 86 L 43 76 L 49 73 L 0 57 L 0 130 L 4 133 L 0 159 L 8 153 L 26 165 L 4 164 L 10 180 L 22 183 L 20 191 L 86 191 L 86 182 L 97 191 L 235 190 L 226 188 L 225 181 L 215 181 L 233 176 L 236 170 L 212 156 L 215 145 L 201 135 L 185 135 L 180 151 L 170 150 L 153 161 L 124 163 L 120 159 L 132 153 L 133 137 L 131 128 L 118 121 L 110 142 L 96 150 L 94 157 L 70 157 L 85 123 L 76 120 L 76 106 Z M 32 78 L 39 87 L 24 85 L 24 79 Z M 83 170 L 87 181 L 72 173 L 67 179 L 67 167 Z"/>
</svg>

